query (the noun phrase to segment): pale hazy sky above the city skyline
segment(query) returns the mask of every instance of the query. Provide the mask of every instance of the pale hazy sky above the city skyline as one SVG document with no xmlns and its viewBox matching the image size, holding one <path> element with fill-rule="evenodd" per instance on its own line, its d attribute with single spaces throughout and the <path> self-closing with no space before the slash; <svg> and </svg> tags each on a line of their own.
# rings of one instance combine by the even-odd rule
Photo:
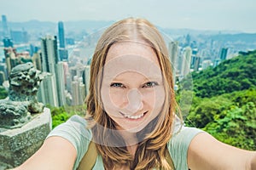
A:
<svg viewBox="0 0 256 170">
<path fill-rule="evenodd" d="M 8 21 L 143 17 L 168 28 L 256 33 L 256 0 L 0 0 Z"/>
</svg>

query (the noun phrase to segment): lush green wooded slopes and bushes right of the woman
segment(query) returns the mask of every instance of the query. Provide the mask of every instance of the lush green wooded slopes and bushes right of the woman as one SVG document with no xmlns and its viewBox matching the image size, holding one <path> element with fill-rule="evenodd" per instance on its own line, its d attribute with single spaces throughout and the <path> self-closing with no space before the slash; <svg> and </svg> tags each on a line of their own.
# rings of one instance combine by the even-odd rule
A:
<svg viewBox="0 0 256 170">
<path fill-rule="evenodd" d="M 191 96 L 183 105 L 188 126 L 200 127 L 226 144 L 256 150 L 256 51 L 225 60 L 206 71 L 193 72 L 180 82 L 177 99 Z M 191 78 L 191 77 L 190 77 Z M 188 97 L 187 97 L 188 98 Z"/>
</svg>

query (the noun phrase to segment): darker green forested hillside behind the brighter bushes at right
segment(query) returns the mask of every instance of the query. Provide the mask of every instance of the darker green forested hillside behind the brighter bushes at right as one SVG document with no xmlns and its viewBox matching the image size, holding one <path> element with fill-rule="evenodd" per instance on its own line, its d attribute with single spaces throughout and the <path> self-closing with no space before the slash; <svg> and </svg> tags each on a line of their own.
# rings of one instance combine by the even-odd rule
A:
<svg viewBox="0 0 256 170">
<path fill-rule="evenodd" d="M 256 87 L 256 51 L 225 60 L 218 66 L 193 72 L 195 95 L 201 98 Z M 183 81 L 182 85 L 188 83 Z"/>
</svg>

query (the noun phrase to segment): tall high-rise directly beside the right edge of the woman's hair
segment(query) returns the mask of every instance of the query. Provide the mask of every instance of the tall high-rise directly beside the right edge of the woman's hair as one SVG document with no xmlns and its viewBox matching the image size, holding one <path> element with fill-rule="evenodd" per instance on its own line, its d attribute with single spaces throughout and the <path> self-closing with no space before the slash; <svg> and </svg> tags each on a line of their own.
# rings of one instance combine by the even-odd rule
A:
<svg viewBox="0 0 256 170">
<path fill-rule="evenodd" d="M 178 53 L 178 42 L 169 42 L 168 44 L 169 57 L 172 64 L 172 76 L 173 81 L 176 81 L 177 72 L 177 53 Z"/>
</svg>

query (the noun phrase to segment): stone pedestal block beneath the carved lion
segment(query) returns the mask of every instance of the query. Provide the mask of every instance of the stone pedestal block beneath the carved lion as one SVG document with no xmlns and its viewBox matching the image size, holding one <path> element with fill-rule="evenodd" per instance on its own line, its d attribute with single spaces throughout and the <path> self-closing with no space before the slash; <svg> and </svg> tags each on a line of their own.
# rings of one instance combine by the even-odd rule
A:
<svg viewBox="0 0 256 170">
<path fill-rule="evenodd" d="M 50 132 L 51 123 L 50 110 L 44 108 L 22 127 L 0 128 L 0 170 L 17 167 L 32 156 Z"/>
</svg>

